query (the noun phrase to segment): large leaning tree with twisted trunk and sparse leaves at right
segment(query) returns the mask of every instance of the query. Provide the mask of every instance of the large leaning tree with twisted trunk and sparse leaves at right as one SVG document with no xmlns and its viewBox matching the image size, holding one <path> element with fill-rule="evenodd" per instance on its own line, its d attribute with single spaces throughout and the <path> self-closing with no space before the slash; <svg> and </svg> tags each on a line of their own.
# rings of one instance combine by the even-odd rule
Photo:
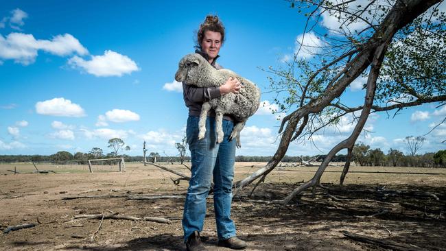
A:
<svg viewBox="0 0 446 251">
<path fill-rule="evenodd" d="M 283 158 L 291 141 L 303 140 L 306 137 L 311 139 L 311 136 L 320 129 L 336 124 L 340 117 L 352 115 L 356 122 L 353 132 L 329 151 L 311 180 L 296 187 L 284 200 L 278 201 L 280 204 L 287 204 L 305 189 L 315 187 L 319 183 L 331 158 L 340 150 L 349 150 L 351 158 L 353 145 L 371 112 L 393 109 L 399 111 L 419 104 L 446 101 L 444 67 L 438 66 L 438 63 L 433 64 L 430 60 L 419 60 L 419 55 L 416 53 L 406 55 L 404 53 L 412 50 L 403 50 L 399 46 L 402 43 L 402 46 L 407 48 L 411 45 L 410 48 L 421 46 L 429 49 L 431 40 L 426 36 L 435 36 L 434 41 L 438 40 L 437 36 L 443 39 L 444 25 L 437 25 L 431 20 L 432 16 L 443 20 L 444 14 L 439 14 L 438 10 L 427 13 L 427 10 L 440 2 L 440 0 L 374 0 L 364 6 L 354 0 L 292 1 L 297 8 L 308 6 L 310 8 L 304 34 L 308 35 L 310 30 L 316 33 L 313 28 L 318 25 L 323 14 L 336 17 L 340 22 L 340 29 L 329 30 L 327 36 L 320 34 L 324 40 L 319 43 L 317 46 L 319 50 L 316 52 L 312 50 L 314 45 L 305 46 L 305 35 L 298 41 L 302 45 L 301 49 L 306 49 L 305 52 L 314 56 L 314 60 L 298 60 L 296 53 L 294 60 L 288 64 L 288 69 L 268 69 L 268 72 L 279 78 L 277 81 L 270 78 L 274 91 L 287 94 L 284 101 L 278 101 L 279 108 L 290 113 L 281 123 L 279 129 L 281 139 L 274 156 L 265 167 L 235 182 L 234 186 L 237 188 L 235 192 L 254 180 L 258 178 L 262 180 L 267 176 Z M 354 8 L 351 8 L 352 6 Z M 312 21 L 313 24 L 310 23 Z M 361 29 L 352 28 L 351 24 L 357 22 L 364 23 Z M 336 36 L 331 36 L 331 32 L 336 32 Z M 395 38 L 400 39 L 395 40 Z M 435 48 L 436 50 L 430 51 L 430 57 L 438 54 L 441 57 L 446 55 L 443 47 Z M 403 64 L 404 60 L 413 62 L 416 58 L 418 58 L 416 67 L 410 68 L 408 65 L 410 71 L 406 73 L 399 71 L 397 65 L 393 64 L 395 62 Z M 430 64 L 435 71 L 429 70 Z M 382 77 L 380 77 L 381 69 L 385 69 Z M 357 107 L 346 106 L 340 96 L 360 75 L 367 76 L 364 81 L 366 82 L 364 103 Z M 416 77 L 420 75 L 423 81 L 417 80 Z M 430 90 L 419 88 L 435 81 L 438 83 L 432 85 Z M 375 96 L 376 94 L 378 96 Z M 385 101 L 382 105 L 374 105 L 377 99 Z M 348 167 L 344 169 L 348 170 Z"/>
</svg>

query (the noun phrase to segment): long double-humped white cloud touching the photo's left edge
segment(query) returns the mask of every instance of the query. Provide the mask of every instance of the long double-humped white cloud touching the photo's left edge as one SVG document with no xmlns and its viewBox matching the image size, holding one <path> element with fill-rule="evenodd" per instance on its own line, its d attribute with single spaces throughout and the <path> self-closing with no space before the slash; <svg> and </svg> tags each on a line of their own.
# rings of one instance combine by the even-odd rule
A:
<svg viewBox="0 0 446 251">
<path fill-rule="evenodd" d="M 88 53 L 79 40 L 70 34 L 57 35 L 52 40 L 36 40 L 32 34 L 10 33 L 6 38 L 0 34 L 0 58 L 27 65 L 36 60 L 38 50 L 57 56 Z"/>
</svg>

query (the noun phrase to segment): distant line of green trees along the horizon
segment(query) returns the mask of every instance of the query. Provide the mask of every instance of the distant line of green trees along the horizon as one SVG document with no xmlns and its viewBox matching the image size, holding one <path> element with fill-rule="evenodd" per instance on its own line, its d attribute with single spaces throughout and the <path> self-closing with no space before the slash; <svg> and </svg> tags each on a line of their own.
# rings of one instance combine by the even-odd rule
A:
<svg viewBox="0 0 446 251">
<path fill-rule="evenodd" d="M 317 156 L 287 156 L 285 155 L 282 162 L 300 163 L 301 159 L 321 161 L 326 155 Z M 0 155 L 0 163 L 17 163 L 17 162 L 46 162 L 54 164 L 77 163 L 86 165 L 89 159 L 115 158 L 122 157 L 126 162 L 144 161 L 143 156 L 127 156 L 125 154 L 115 155 L 114 153 L 103 154 L 102 149 L 93 147 L 90 152 L 76 152 L 71 154 L 67 151 L 56 152 L 51 155 Z M 157 152 L 150 153 L 152 162 L 163 163 L 187 163 L 190 162 L 189 156 L 161 156 Z M 235 157 L 237 162 L 267 162 L 271 156 L 243 156 Z M 347 155 L 338 154 L 334 156 L 332 162 L 345 162 Z M 408 154 L 407 156 L 399 150 L 390 149 L 384 154 L 379 148 L 371 149 L 369 145 L 364 143 L 356 144 L 353 147 L 352 160 L 356 165 L 374 166 L 374 167 L 446 167 L 446 150 L 440 150 L 436 153 L 426 153 L 423 155 Z"/>
</svg>

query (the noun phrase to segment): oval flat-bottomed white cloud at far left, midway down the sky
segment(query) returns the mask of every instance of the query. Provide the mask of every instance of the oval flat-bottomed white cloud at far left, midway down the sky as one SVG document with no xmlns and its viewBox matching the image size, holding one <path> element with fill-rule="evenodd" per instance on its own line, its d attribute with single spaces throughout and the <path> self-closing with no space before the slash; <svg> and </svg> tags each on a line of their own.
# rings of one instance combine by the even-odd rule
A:
<svg viewBox="0 0 446 251">
<path fill-rule="evenodd" d="M 84 109 L 78 104 L 71 103 L 71 100 L 63 97 L 55 97 L 36 103 L 36 112 L 40 115 L 51 115 L 61 117 L 83 117 Z"/>
</svg>

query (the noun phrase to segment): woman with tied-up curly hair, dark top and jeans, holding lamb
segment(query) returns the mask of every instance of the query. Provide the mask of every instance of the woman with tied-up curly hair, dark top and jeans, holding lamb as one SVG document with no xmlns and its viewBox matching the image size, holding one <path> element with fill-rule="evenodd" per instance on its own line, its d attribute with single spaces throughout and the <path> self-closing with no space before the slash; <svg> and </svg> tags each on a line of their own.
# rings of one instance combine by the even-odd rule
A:
<svg viewBox="0 0 446 251">
<path fill-rule="evenodd" d="M 197 34 L 197 50 L 215 69 L 221 69 L 215 61 L 224 41 L 224 26 L 218 16 L 207 16 Z M 223 117 L 224 140 L 216 143 L 215 111 L 208 113 L 206 134 L 198 140 L 198 121 L 203 102 L 226 93 L 238 93 L 238 80 L 228 79 L 219 87 L 197 88 L 183 84 L 183 97 L 189 108 L 187 119 L 187 143 L 191 150 L 191 180 L 187 189 L 183 213 L 183 230 L 187 250 L 206 250 L 200 241 L 206 215 L 206 198 L 214 183 L 213 200 L 217 223 L 218 245 L 226 248 L 246 248 L 246 242 L 238 239 L 231 219 L 232 182 L 234 177 L 235 141 L 228 137 L 233 130 L 230 115 Z"/>
</svg>

